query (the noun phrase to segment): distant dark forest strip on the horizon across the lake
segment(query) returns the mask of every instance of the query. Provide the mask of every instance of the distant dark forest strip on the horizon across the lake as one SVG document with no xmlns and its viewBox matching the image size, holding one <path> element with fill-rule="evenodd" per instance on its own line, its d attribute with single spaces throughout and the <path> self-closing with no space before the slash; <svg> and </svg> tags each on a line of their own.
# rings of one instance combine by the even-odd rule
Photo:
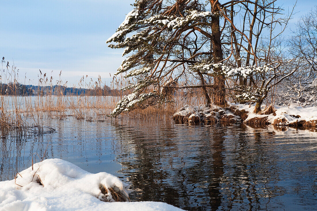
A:
<svg viewBox="0 0 317 211">
<path fill-rule="evenodd" d="M 111 89 L 109 86 L 95 87 L 94 89 L 74 88 L 61 85 L 34 86 L 20 83 L 0 83 L 0 95 L 90 95 L 90 96 L 118 96 L 123 91 Z"/>
</svg>

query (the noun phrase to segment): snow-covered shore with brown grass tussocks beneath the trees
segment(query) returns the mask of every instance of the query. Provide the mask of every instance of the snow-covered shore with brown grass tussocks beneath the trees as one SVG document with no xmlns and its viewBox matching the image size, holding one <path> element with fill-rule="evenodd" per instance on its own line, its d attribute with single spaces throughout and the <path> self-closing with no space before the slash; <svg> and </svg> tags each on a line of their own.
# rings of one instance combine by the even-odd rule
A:
<svg viewBox="0 0 317 211">
<path fill-rule="evenodd" d="M 317 127 L 317 106 L 265 106 L 260 113 L 253 113 L 254 105 L 228 103 L 228 107 L 217 105 L 210 107 L 199 105 L 185 105 L 173 115 L 176 123 L 205 123 L 205 124 L 232 124 L 244 123 L 247 125 L 287 125 Z"/>
</svg>

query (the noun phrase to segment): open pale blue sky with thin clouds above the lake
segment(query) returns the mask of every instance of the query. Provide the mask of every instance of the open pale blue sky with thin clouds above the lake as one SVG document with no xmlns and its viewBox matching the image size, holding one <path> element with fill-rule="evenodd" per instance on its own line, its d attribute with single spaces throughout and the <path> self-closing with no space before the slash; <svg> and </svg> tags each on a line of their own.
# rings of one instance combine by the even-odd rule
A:
<svg viewBox="0 0 317 211">
<path fill-rule="evenodd" d="M 221 1 L 220 1 L 221 2 Z M 277 0 L 287 11 L 296 0 Z M 25 84 L 37 85 L 39 69 L 54 79 L 77 84 L 82 76 L 110 84 L 123 49 L 107 39 L 133 7 L 134 0 L 1 0 L 0 56 L 19 69 Z M 294 23 L 316 0 L 298 1 Z M 111 74 L 111 77 L 110 77 Z M 24 78 L 28 80 L 24 82 Z"/>
</svg>

